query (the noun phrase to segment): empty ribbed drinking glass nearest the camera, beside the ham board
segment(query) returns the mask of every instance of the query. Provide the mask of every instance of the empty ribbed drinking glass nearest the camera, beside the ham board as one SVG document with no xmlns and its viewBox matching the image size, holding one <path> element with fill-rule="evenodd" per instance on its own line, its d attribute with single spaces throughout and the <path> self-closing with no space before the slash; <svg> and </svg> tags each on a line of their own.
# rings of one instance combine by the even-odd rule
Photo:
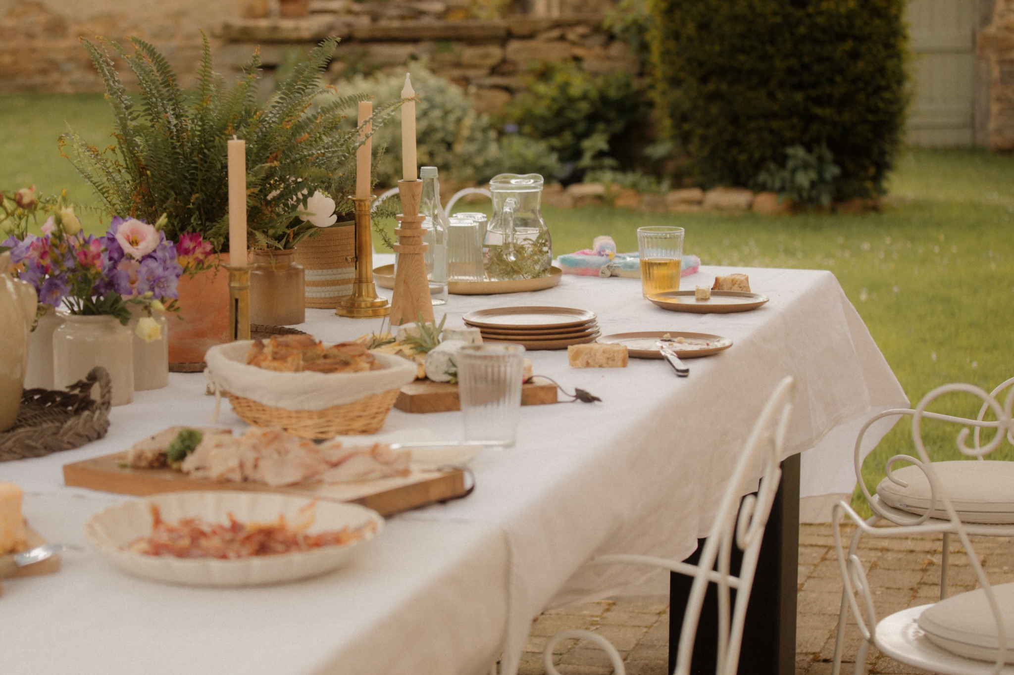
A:
<svg viewBox="0 0 1014 675">
<path fill-rule="evenodd" d="M 458 351 L 465 441 L 514 445 L 523 377 L 524 348 L 520 345 L 473 345 Z"/>
</svg>

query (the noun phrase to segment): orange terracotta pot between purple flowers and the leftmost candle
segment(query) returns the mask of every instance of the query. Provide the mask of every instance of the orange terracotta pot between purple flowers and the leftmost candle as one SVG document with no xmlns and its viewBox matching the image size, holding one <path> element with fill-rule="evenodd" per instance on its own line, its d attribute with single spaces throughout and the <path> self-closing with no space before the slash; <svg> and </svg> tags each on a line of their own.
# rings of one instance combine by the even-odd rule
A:
<svg viewBox="0 0 1014 675">
<path fill-rule="evenodd" d="M 221 264 L 226 255 L 216 255 Z M 199 363 L 215 345 L 229 342 L 229 272 L 218 267 L 185 274 L 176 286 L 179 318 L 168 317 L 169 363 Z"/>
</svg>

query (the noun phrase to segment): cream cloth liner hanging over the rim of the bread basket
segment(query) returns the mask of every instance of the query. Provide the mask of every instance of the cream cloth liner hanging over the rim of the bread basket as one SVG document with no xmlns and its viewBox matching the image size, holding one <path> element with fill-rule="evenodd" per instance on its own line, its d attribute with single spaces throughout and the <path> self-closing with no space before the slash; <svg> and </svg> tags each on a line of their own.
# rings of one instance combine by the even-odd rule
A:
<svg viewBox="0 0 1014 675">
<path fill-rule="evenodd" d="M 416 379 L 416 364 L 391 354 L 374 354 L 382 370 L 362 373 L 279 373 L 246 365 L 252 341 L 217 345 L 205 354 L 212 386 L 230 395 L 287 410 L 322 410 L 371 394 L 401 389 Z"/>
</svg>

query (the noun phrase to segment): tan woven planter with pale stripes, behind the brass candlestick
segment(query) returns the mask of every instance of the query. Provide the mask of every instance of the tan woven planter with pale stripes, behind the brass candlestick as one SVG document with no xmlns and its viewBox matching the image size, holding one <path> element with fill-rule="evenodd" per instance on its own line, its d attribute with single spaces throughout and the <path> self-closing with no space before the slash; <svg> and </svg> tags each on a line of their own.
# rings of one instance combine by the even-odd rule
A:
<svg viewBox="0 0 1014 675">
<path fill-rule="evenodd" d="M 352 294 L 356 276 L 356 228 L 329 227 L 296 246 L 296 262 L 303 266 L 307 307 L 334 309 Z"/>
</svg>

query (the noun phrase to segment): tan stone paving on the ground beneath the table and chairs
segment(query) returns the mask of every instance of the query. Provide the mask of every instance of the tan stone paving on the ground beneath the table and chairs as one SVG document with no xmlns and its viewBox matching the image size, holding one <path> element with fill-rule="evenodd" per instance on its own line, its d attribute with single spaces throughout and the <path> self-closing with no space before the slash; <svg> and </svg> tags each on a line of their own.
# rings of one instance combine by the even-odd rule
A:
<svg viewBox="0 0 1014 675">
<path fill-rule="evenodd" d="M 865 537 L 859 557 L 875 589 L 878 616 L 940 597 L 941 537 Z M 1014 581 L 1012 539 L 972 537 L 972 545 L 992 583 Z M 951 542 L 949 594 L 975 587 L 974 575 L 959 543 Z M 829 675 L 842 581 L 829 525 L 801 525 L 799 532 L 799 601 L 796 631 L 796 675 Z M 586 628 L 608 639 L 624 657 L 630 675 L 665 675 L 669 608 L 666 596 L 626 596 L 548 611 L 531 624 L 521 661 L 521 675 L 545 675 L 542 647 L 549 636 L 568 628 Z M 859 630 L 851 621 L 846 632 L 843 674 L 853 672 Z M 610 675 L 605 654 L 591 643 L 557 645 L 554 663 L 565 675 Z M 870 673 L 923 673 L 871 649 Z"/>
</svg>

